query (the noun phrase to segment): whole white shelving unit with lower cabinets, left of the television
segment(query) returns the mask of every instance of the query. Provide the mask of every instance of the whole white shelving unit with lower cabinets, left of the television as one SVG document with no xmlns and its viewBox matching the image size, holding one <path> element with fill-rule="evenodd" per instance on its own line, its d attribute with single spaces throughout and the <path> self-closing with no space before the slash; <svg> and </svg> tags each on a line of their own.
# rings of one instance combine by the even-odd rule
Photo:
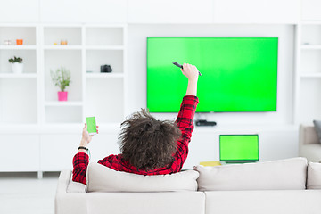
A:
<svg viewBox="0 0 321 214">
<path fill-rule="evenodd" d="M 117 138 L 126 109 L 126 32 L 125 24 L 0 24 L 0 146 L 6 151 L 0 161 L 14 165 L 0 171 L 38 171 L 42 177 L 42 171 L 71 168 L 89 115 L 103 128 L 96 146 L 111 149 L 105 140 Z M 17 38 L 23 45 L 13 44 Z M 4 45 L 8 39 L 12 45 Z M 61 40 L 68 44 L 60 45 Z M 8 59 L 13 56 L 23 59 L 23 73 L 12 73 Z M 111 65 L 111 73 L 100 72 L 104 64 Z M 67 102 L 58 101 L 59 88 L 50 76 L 50 70 L 61 67 L 71 73 Z M 65 152 L 53 152 L 52 144 Z M 18 164 L 12 154 L 28 164 Z"/>
</svg>

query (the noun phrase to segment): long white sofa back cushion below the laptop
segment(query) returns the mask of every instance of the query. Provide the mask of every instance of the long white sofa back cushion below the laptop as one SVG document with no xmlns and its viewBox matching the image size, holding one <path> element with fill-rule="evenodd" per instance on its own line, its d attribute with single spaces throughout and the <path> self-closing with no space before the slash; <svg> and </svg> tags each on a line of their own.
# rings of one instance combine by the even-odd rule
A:
<svg viewBox="0 0 321 214">
<path fill-rule="evenodd" d="M 194 167 L 200 191 L 305 189 L 307 159 Z"/>
</svg>

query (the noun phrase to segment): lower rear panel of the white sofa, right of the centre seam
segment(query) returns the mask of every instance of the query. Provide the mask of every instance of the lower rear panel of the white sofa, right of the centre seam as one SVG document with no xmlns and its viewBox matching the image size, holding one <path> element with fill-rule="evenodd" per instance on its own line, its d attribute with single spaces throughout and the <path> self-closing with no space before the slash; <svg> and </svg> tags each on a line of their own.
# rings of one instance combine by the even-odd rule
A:
<svg viewBox="0 0 321 214">
<path fill-rule="evenodd" d="M 319 214 L 321 193 L 312 190 L 205 192 L 206 214 Z"/>
</svg>

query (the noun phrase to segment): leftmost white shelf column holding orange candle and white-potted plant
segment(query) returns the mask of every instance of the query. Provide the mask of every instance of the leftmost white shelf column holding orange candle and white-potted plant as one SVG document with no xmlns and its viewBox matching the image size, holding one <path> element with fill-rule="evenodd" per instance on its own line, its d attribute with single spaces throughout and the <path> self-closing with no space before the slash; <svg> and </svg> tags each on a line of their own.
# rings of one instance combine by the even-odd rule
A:
<svg viewBox="0 0 321 214">
<path fill-rule="evenodd" d="M 16 45 L 21 38 L 23 45 Z M 8 60 L 13 56 L 23 59 L 23 73 L 12 73 Z M 37 25 L 0 25 L 1 125 L 37 124 L 37 74 Z"/>
</svg>

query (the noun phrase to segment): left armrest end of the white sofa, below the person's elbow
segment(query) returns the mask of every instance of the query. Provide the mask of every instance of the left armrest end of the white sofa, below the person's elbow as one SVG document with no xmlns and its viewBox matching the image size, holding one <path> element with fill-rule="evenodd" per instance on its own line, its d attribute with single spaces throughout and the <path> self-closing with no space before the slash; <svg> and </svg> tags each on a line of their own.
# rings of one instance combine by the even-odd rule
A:
<svg viewBox="0 0 321 214">
<path fill-rule="evenodd" d="M 86 193 L 68 193 L 71 170 L 63 169 L 54 199 L 55 214 L 87 214 Z"/>
</svg>

